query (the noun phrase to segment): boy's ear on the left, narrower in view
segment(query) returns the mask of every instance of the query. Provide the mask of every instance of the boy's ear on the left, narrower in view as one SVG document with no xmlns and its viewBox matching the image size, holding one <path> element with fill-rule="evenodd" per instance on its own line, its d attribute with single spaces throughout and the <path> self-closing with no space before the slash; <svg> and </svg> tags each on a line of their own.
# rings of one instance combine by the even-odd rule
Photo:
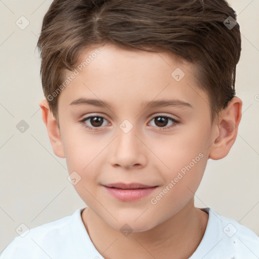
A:
<svg viewBox="0 0 259 259">
<path fill-rule="evenodd" d="M 47 100 L 42 100 L 39 103 L 41 108 L 42 120 L 45 123 L 48 135 L 51 141 L 52 149 L 58 157 L 65 158 L 64 150 L 61 141 L 61 134 L 56 119 L 50 110 Z"/>
</svg>

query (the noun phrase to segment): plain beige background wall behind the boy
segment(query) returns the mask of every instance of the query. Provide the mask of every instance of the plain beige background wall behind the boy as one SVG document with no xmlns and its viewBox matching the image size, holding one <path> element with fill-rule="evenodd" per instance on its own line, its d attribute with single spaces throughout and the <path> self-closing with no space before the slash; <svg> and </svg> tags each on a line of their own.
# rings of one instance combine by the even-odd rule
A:
<svg viewBox="0 0 259 259">
<path fill-rule="evenodd" d="M 44 95 L 35 46 L 51 2 L 0 1 L 0 252 L 18 235 L 20 224 L 33 228 L 85 206 L 67 180 L 65 159 L 52 150 L 38 105 Z M 195 202 L 259 235 L 259 0 L 229 3 L 242 33 L 236 88 L 243 116 L 229 155 L 208 161 Z M 29 21 L 23 30 L 16 25 L 21 16 Z M 21 120 L 29 125 L 24 133 L 16 127 Z"/>
</svg>

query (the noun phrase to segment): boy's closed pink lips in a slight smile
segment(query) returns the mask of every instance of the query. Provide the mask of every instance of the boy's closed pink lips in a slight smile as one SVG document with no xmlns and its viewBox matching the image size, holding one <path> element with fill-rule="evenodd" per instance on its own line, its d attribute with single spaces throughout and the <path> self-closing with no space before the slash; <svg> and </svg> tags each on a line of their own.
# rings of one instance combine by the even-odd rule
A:
<svg viewBox="0 0 259 259">
<path fill-rule="evenodd" d="M 116 199 L 121 201 L 134 201 L 149 195 L 158 186 L 147 186 L 138 183 L 115 183 L 103 185 L 103 187 Z"/>
</svg>

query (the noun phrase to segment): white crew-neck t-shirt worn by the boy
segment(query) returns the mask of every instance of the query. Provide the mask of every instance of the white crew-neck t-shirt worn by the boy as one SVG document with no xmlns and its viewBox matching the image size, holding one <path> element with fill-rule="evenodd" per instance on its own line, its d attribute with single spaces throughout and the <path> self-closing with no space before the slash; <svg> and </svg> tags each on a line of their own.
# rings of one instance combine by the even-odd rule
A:
<svg viewBox="0 0 259 259">
<path fill-rule="evenodd" d="M 81 211 L 24 232 L 2 252 L 1 259 L 104 259 L 85 229 Z M 189 259 L 258 259 L 259 237 L 232 219 L 209 214 L 204 236 Z M 27 234 L 26 234 L 27 233 Z M 26 235 L 25 235 L 26 234 Z M 25 235 L 25 236 L 24 236 Z"/>
</svg>

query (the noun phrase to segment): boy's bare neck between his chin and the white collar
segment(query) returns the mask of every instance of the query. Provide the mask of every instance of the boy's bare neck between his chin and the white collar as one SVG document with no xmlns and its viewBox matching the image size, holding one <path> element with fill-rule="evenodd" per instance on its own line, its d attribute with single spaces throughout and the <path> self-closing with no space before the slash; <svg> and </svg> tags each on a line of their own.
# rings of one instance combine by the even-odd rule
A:
<svg viewBox="0 0 259 259">
<path fill-rule="evenodd" d="M 144 232 L 123 236 L 111 228 L 93 210 L 82 212 L 82 221 L 96 249 L 109 258 L 189 258 L 198 247 L 208 214 L 190 200 L 170 219 Z"/>
</svg>

